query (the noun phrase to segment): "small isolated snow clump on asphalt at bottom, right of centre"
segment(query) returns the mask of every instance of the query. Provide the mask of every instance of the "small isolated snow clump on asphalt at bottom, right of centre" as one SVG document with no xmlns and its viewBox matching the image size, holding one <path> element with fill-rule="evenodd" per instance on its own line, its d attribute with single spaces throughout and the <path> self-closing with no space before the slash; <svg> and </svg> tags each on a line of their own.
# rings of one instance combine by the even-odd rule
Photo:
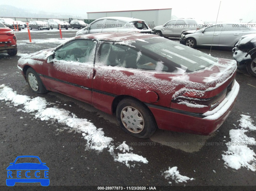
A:
<svg viewBox="0 0 256 191">
<path fill-rule="evenodd" d="M 187 182 L 187 180 L 194 180 L 194 178 L 189 178 L 187 176 L 182 176 L 180 175 L 180 172 L 177 170 L 178 167 L 174 166 L 174 167 L 169 167 L 169 170 L 164 171 L 164 173 L 162 173 L 162 175 L 164 175 L 164 177 L 166 179 L 168 179 L 169 177 L 171 177 L 176 183 L 179 182 Z M 171 182 L 169 182 L 171 184 Z"/>
</svg>

